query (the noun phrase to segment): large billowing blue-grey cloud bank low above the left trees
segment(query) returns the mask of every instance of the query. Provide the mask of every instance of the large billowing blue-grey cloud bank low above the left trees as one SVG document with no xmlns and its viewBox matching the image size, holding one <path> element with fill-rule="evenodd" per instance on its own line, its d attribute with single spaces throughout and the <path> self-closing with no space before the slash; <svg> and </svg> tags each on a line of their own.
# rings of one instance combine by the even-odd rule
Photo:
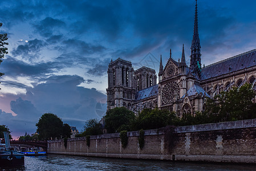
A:
<svg viewBox="0 0 256 171">
<path fill-rule="evenodd" d="M 97 103 L 106 103 L 107 96 L 95 88 L 79 87 L 85 80 L 78 75 L 50 76 L 42 79 L 44 83 L 29 87 L 26 95 L 17 95 L 10 101 L 11 113 L 0 111 L 0 124 L 4 119 L 11 131 L 24 135 L 25 131 L 34 133 L 35 124 L 43 113 L 54 113 L 64 123 L 83 128 L 86 120 L 100 119 L 104 112 L 96 112 Z M 87 80 L 92 82 L 93 80 Z M 9 96 L 9 95 L 6 95 Z M 14 96 L 14 95 L 10 95 Z M 7 99 L 6 97 L 5 99 Z M 103 108 L 103 111 L 106 108 Z M 8 116 L 8 117 L 6 117 Z M 25 125 L 26 123 L 26 125 Z M 19 125 L 19 127 L 17 127 Z"/>
</svg>

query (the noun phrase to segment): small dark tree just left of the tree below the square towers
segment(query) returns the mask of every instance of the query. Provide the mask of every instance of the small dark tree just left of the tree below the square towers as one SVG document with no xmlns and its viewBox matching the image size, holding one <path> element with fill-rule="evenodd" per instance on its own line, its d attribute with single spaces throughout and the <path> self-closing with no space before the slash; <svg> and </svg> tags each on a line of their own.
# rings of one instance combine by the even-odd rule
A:
<svg viewBox="0 0 256 171">
<path fill-rule="evenodd" d="M 90 119 L 86 121 L 84 125 L 84 131 L 77 135 L 76 137 L 84 137 L 87 135 L 100 135 L 103 132 L 101 131 L 101 124 L 97 119 Z"/>
</svg>

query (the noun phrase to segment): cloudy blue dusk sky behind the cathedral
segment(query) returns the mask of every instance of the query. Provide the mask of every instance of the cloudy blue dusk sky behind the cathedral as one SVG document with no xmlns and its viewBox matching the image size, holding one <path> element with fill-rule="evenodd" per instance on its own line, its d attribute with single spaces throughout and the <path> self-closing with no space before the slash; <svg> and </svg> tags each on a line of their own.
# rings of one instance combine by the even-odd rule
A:
<svg viewBox="0 0 256 171">
<path fill-rule="evenodd" d="M 0 65 L 0 125 L 14 139 L 35 133 L 40 116 L 54 113 L 83 129 L 106 110 L 111 59 L 159 72 L 185 47 L 189 65 L 193 0 L 0 1 L 0 33 L 9 54 Z M 201 63 L 205 66 L 256 47 L 256 1 L 198 0 Z"/>
</svg>

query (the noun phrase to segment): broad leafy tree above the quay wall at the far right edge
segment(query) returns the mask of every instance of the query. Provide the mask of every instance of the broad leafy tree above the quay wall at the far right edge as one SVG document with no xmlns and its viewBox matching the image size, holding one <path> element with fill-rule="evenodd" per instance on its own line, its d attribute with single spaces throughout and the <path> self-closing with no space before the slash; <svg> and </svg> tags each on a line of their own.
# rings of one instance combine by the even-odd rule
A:
<svg viewBox="0 0 256 171">
<path fill-rule="evenodd" d="M 256 104 L 252 101 L 255 95 L 249 83 L 240 88 L 233 87 L 208 99 L 204 113 L 208 115 L 209 122 L 253 119 L 256 117 Z"/>
</svg>

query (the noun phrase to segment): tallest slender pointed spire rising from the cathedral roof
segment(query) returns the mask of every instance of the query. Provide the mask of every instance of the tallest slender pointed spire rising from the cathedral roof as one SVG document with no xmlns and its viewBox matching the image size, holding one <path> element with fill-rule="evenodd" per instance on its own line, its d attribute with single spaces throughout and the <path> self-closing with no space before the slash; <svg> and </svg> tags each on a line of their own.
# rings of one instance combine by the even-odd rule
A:
<svg viewBox="0 0 256 171">
<path fill-rule="evenodd" d="M 191 44 L 191 55 L 190 55 L 190 68 L 189 72 L 201 79 L 201 46 L 198 34 L 198 19 L 197 19 L 197 0 L 196 10 L 194 14 L 194 34 Z"/>
</svg>

